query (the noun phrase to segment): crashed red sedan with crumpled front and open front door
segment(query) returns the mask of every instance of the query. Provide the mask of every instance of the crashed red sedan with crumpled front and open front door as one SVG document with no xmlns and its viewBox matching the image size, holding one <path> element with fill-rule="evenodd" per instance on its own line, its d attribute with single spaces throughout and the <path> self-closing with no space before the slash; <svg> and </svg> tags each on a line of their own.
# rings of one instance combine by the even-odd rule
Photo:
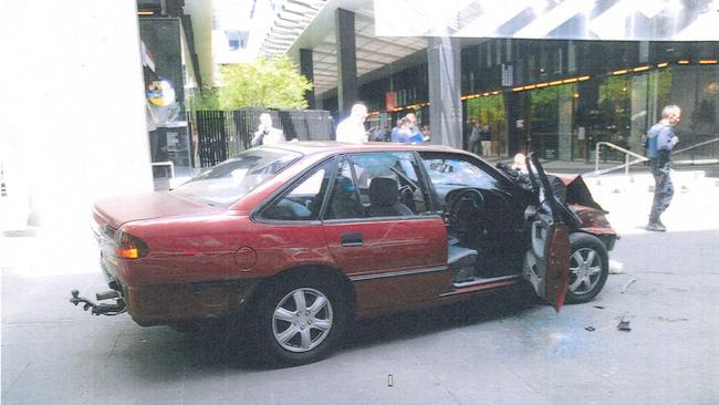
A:
<svg viewBox="0 0 719 405">
<path fill-rule="evenodd" d="M 616 238 L 605 211 L 535 158 L 529 175 L 499 166 L 441 146 L 246 150 L 174 190 L 98 201 L 97 298 L 115 301 L 71 301 L 140 325 L 242 314 L 263 354 L 300 364 L 352 319 L 525 282 L 558 311 L 592 300 Z"/>
</svg>

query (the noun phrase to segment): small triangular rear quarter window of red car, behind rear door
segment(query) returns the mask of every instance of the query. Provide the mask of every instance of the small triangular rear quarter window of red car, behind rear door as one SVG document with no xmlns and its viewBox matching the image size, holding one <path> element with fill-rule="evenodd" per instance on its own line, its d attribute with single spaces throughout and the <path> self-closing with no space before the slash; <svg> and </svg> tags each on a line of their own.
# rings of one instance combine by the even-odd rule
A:
<svg viewBox="0 0 719 405">
<path fill-rule="evenodd" d="M 263 219 L 315 220 L 330 184 L 334 160 L 327 162 L 290 187 L 260 215 Z"/>
</svg>

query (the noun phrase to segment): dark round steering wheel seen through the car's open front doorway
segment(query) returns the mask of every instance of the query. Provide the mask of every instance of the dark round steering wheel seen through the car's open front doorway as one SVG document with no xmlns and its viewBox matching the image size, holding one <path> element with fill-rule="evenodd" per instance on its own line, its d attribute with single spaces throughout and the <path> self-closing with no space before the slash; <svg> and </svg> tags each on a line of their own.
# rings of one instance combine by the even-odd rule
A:
<svg viewBox="0 0 719 405">
<path fill-rule="evenodd" d="M 447 194 L 446 200 L 447 220 L 451 230 L 459 233 L 473 233 L 481 230 L 484 219 L 484 197 L 478 189 L 451 190 Z"/>
</svg>

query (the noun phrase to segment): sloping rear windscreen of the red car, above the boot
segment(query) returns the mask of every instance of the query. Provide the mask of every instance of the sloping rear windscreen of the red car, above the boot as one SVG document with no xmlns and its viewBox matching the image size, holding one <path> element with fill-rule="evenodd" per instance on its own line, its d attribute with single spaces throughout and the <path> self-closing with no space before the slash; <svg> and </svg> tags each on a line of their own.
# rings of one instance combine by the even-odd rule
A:
<svg viewBox="0 0 719 405">
<path fill-rule="evenodd" d="M 229 206 L 301 156 L 294 152 L 273 148 L 246 150 L 175 188 L 173 193 Z"/>
</svg>

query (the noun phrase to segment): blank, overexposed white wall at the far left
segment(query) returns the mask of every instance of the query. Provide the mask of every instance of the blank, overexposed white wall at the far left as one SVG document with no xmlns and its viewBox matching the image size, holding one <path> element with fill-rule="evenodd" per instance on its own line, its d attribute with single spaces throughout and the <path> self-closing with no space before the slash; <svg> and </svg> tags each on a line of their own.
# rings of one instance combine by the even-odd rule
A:
<svg viewBox="0 0 719 405">
<path fill-rule="evenodd" d="M 2 1 L 0 41 L 0 228 L 86 232 L 96 198 L 153 189 L 134 0 Z"/>
</svg>

